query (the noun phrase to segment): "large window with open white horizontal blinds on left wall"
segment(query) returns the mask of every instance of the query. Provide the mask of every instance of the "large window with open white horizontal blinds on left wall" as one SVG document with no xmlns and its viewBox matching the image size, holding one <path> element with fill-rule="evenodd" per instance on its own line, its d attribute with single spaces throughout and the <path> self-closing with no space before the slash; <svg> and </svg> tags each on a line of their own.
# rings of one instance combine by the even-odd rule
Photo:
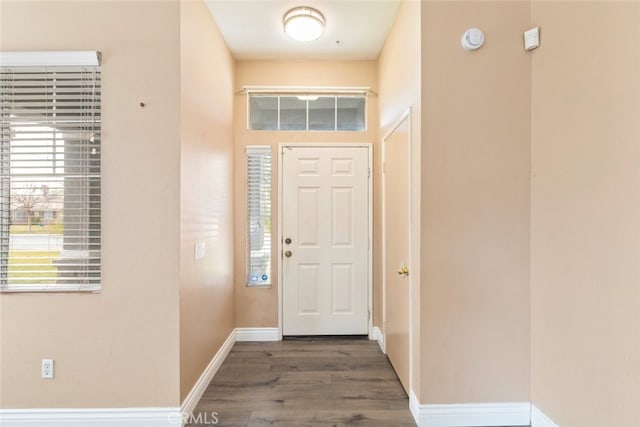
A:
<svg viewBox="0 0 640 427">
<path fill-rule="evenodd" d="M 100 288 L 98 59 L 97 52 L 0 57 L 2 291 Z"/>
</svg>

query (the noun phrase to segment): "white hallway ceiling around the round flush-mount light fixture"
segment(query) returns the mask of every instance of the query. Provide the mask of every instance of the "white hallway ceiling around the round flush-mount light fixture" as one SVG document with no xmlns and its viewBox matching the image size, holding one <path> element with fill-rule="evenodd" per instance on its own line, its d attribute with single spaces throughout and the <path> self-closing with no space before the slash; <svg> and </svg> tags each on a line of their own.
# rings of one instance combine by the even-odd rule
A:
<svg viewBox="0 0 640 427">
<path fill-rule="evenodd" d="M 206 0 L 233 56 L 249 59 L 376 59 L 395 20 L 398 0 Z M 296 6 L 318 9 L 324 34 L 302 43 L 282 30 Z"/>
</svg>

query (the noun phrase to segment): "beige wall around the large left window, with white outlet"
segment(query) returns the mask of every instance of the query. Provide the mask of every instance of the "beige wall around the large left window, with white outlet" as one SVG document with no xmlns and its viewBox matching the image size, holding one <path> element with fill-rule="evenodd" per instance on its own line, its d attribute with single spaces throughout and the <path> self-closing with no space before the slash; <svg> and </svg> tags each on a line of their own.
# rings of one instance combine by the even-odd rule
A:
<svg viewBox="0 0 640 427">
<path fill-rule="evenodd" d="M 103 53 L 104 278 L 97 294 L 0 295 L 3 408 L 180 403 L 178 16 L 176 2 L 2 2 L 0 49 Z"/>
</svg>

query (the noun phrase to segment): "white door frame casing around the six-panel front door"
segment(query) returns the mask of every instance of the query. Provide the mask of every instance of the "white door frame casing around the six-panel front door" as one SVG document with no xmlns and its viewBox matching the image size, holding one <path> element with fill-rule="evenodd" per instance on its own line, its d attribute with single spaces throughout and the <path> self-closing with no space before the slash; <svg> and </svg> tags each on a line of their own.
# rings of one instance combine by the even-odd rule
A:
<svg viewBox="0 0 640 427">
<path fill-rule="evenodd" d="M 367 306 L 369 318 L 367 320 L 368 336 L 373 339 L 373 144 L 364 142 L 281 142 L 278 144 L 278 242 L 277 242 L 277 260 L 278 260 L 278 339 L 282 340 L 282 316 L 283 316 L 283 292 L 282 292 L 282 214 L 283 214 L 283 168 L 282 153 L 285 147 L 302 147 L 302 148 L 366 148 L 367 149 L 367 220 L 369 226 L 368 248 L 367 248 Z"/>
</svg>

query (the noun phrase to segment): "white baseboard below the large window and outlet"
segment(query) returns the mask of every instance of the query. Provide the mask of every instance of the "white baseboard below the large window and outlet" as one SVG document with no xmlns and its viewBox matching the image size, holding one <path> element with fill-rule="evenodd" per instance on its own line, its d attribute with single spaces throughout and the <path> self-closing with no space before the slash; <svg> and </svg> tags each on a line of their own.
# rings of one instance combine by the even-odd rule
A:
<svg viewBox="0 0 640 427">
<path fill-rule="evenodd" d="M 180 408 L 2 409 L 2 427 L 176 427 Z"/>
</svg>

